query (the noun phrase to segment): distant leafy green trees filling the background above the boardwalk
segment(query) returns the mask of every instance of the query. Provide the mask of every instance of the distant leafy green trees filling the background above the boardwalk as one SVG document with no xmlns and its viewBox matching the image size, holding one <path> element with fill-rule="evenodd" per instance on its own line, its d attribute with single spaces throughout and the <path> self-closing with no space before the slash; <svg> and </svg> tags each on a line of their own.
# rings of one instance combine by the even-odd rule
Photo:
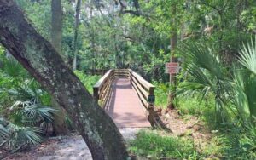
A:
<svg viewBox="0 0 256 160">
<path fill-rule="evenodd" d="M 37 31 L 50 37 L 49 3 L 17 2 L 23 6 Z M 177 4 L 175 15 L 172 13 L 173 3 Z M 77 4 L 78 1 L 62 1 L 61 54 L 72 68 L 75 61 L 78 70 L 129 66 L 148 77 L 161 77 L 164 82 L 169 82 L 163 64 L 170 61 L 172 31 L 177 30 L 177 45 L 181 44 L 178 42 L 182 37 L 186 41 L 204 39 L 204 42 L 215 43 L 218 53 L 228 62 L 238 54 L 239 43 L 256 30 L 253 0 L 154 0 L 147 3 L 91 0 L 81 1 L 80 34 L 75 40 Z M 174 16 L 176 22 L 172 23 Z M 205 31 L 207 26 L 214 28 L 210 36 Z M 79 54 L 75 56 L 75 53 Z"/>
</svg>

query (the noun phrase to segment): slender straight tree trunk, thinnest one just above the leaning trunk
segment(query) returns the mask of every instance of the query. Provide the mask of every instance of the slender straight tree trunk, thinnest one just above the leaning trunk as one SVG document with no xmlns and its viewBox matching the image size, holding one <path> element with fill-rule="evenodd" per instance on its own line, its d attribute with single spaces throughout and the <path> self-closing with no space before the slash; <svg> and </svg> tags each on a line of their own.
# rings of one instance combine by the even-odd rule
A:
<svg viewBox="0 0 256 160">
<path fill-rule="evenodd" d="M 81 0 L 78 0 L 76 6 L 76 20 L 73 36 L 73 71 L 77 69 L 77 54 L 78 54 L 78 33 L 79 33 L 79 14 L 81 10 Z"/>
</svg>

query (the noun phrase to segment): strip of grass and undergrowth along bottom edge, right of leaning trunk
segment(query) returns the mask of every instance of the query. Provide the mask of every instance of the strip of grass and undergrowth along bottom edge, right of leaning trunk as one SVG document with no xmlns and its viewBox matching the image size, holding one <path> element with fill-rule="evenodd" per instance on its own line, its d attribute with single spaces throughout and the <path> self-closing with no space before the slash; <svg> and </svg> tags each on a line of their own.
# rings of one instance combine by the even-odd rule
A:
<svg viewBox="0 0 256 160">
<path fill-rule="evenodd" d="M 236 134 L 241 136 L 241 134 Z M 130 140 L 128 150 L 138 159 L 255 159 L 255 140 L 232 134 L 212 134 L 209 139 L 194 141 L 192 136 L 182 137 L 160 130 L 141 130 Z M 231 139 L 232 137 L 232 139 Z M 236 138 L 235 138 L 236 137 Z M 252 137 L 251 137 L 252 138 Z M 236 147 L 234 147 L 236 146 Z"/>
</svg>

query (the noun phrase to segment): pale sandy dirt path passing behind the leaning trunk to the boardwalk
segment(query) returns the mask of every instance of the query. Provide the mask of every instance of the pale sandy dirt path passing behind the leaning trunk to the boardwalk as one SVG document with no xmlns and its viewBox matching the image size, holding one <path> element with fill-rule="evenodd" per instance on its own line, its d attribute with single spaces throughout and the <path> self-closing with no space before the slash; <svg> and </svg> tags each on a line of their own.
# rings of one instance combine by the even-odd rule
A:
<svg viewBox="0 0 256 160">
<path fill-rule="evenodd" d="M 119 129 L 125 140 L 135 138 L 139 128 Z M 15 153 L 4 160 L 90 160 L 88 146 L 79 135 L 54 137 L 43 144 L 33 147 L 31 151 Z"/>
</svg>

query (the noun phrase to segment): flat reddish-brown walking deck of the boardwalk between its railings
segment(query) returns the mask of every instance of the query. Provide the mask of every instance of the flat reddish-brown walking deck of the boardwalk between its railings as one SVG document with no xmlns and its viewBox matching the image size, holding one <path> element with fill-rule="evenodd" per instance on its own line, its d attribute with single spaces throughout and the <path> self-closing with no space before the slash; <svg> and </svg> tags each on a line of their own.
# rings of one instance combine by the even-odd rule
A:
<svg viewBox="0 0 256 160">
<path fill-rule="evenodd" d="M 132 89 L 128 78 L 116 78 L 113 80 L 110 99 L 105 111 L 113 118 L 119 128 L 143 128 L 150 127 L 146 119 L 143 106 Z"/>
</svg>

